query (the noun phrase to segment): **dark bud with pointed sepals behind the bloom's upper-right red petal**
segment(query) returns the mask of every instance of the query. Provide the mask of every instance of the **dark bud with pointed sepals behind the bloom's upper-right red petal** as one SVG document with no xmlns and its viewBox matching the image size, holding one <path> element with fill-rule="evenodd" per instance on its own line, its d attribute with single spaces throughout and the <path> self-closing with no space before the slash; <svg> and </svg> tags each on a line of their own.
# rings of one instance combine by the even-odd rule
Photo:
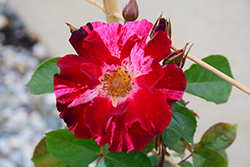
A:
<svg viewBox="0 0 250 167">
<path fill-rule="evenodd" d="M 159 18 L 156 20 L 151 32 L 150 32 L 150 37 L 153 38 L 153 36 L 155 35 L 155 33 L 157 33 L 158 31 L 162 30 L 163 32 L 165 32 L 168 36 L 169 39 L 171 39 L 171 22 L 170 19 L 165 19 L 162 18 L 162 13 L 159 16 Z"/>
</svg>

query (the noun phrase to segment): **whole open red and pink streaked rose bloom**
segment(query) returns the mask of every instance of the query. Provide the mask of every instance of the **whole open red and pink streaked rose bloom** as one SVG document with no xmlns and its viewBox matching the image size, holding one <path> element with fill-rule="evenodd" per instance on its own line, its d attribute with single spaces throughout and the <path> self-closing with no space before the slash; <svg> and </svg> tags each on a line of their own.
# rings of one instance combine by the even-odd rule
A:
<svg viewBox="0 0 250 167">
<path fill-rule="evenodd" d="M 147 20 L 70 28 L 78 55 L 57 62 L 60 117 L 77 138 L 109 143 L 111 152 L 141 150 L 166 129 L 186 88 L 181 68 L 159 63 L 171 53 L 171 40 L 158 31 L 146 42 Z"/>
</svg>

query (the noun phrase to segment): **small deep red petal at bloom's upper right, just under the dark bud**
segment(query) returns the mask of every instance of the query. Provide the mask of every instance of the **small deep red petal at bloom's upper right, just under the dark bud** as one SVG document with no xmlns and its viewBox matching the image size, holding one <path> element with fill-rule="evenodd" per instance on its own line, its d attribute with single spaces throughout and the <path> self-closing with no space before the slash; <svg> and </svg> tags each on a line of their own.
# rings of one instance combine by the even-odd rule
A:
<svg viewBox="0 0 250 167">
<path fill-rule="evenodd" d="M 172 41 L 163 31 L 159 31 L 145 46 L 145 56 L 151 55 L 158 62 L 166 58 L 170 53 Z"/>
</svg>

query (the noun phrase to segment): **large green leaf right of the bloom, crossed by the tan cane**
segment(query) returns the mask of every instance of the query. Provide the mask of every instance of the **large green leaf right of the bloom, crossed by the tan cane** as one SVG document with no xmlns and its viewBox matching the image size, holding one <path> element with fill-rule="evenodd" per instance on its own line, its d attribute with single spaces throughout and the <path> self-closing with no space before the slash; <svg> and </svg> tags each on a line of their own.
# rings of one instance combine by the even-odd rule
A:
<svg viewBox="0 0 250 167">
<path fill-rule="evenodd" d="M 202 60 L 228 76 L 233 77 L 229 62 L 224 56 L 211 55 Z M 184 73 L 187 79 L 187 93 L 216 104 L 227 102 L 232 89 L 230 83 L 197 64 L 193 64 Z"/>
</svg>

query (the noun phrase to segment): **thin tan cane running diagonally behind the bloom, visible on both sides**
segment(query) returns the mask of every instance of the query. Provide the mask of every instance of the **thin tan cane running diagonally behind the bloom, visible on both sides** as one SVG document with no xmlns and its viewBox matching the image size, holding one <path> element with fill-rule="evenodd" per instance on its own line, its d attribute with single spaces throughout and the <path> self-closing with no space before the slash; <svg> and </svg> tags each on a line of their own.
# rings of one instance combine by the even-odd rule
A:
<svg viewBox="0 0 250 167">
<path fill-rule="evenodd" d="M 87 0 L 88 2 L 92 3 L 93 5 L 101 8 L 102 10 L 104 10 L 104 7 L 102 4 L 96 2 L 95 0 Z M 103 0 L 105 1 L 105 0 Z M 106 3 L 110 3 L 116 0 L 106 0 Z M 117 2 L 116 2 L 117 4 Z M 105 11 L 105 10 L 104 10 Z M 107 14 L 106 14 L 107 15 Z M 124 21 L 123 17 L 121 14 L 118 13 L 118 10 L 112 14 L 113 17 L 116 17 L 117 19 L 120 19 L 122 21 Z M 179 47 L 175 46 L 172 44 L 171 48 L 173 50 L 178 50 L 180 49 Z M 242 84 L 240 84 L 239 82 L 235 81 L 234 79 L 232 79 L 231 77 L 227 76 L 226 74 L 222 73 L 221 71 L 217 70 L 216 68 L 210 66 L 209 64 L 205 63 L 204 61 L 196 58 L 195 56 L 188 54 L 187 58 L 189 58 L 190 60 L 192 60 L 193 62 L 195 62 L 196 64 L 200 65 L 201 67 L 207 69 L 208 71 L 214 73 L 215 75 L 217 75 L 218 77 L 224 79 L 225 81 L 227 81 L 228 83 L 234 85 L 235 87 L 239 88 L 240 90 L 242 90 L 243 92 L 247 93 L 248 95 L 250 95 L 250 89 Z"/>
</svg>

